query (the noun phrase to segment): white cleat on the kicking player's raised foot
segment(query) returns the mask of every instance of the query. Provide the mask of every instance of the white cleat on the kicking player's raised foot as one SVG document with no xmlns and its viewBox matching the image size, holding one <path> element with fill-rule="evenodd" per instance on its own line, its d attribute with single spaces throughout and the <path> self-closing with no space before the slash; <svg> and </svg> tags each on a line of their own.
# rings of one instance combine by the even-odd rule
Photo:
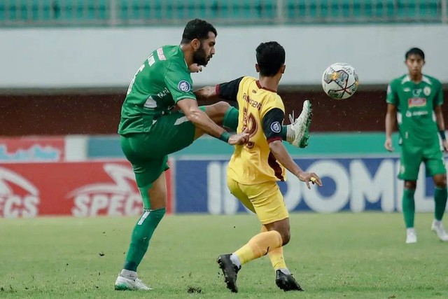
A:
<svg viewBox="0 0 448 299">
<path fill-rule="evenodd" d="M 298 148 L 305 148 L 308 146 L 309 139 L 309 125 L 311 125 L 311 116 L 313 111 L 309 100 L 303 102 L 302 113 L 296 119 L 293 115 L 289 115 L 290 125 L 287 126 L 287 141 Z"/>
</svg>

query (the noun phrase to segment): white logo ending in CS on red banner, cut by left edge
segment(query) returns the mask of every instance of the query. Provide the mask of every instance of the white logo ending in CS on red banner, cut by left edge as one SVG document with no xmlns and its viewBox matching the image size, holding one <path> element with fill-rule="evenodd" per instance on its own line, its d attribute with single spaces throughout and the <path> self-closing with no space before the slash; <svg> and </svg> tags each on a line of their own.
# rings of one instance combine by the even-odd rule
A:
<svg viewBox="0 0 448 299">
<path fill-rule="evenodd" d="M 20 174 L 0 167 L 0 216 L 37 216 L 40 202 L 36 186 Z"/>
</svg>

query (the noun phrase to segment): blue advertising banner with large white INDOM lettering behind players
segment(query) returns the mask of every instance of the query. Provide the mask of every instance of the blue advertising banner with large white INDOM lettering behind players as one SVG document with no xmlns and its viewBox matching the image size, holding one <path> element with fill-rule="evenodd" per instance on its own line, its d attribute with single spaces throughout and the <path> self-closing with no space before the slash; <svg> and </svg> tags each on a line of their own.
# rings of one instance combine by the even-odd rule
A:
<svg viewBox="0 0 448 299">
<path fill-rule="evenodd" d="M 399 160 L 378 158 L 296 159 L 302 169 L 321 176 L 323 186 L 307 186 L 288 173 L 279 186 L 289 211 L 401 211 L 402 181 L 396 178 Z M 176 213 L 235 214 L 245 207 L 230 194 L 228 160 L 176 159 L 174 211 Z M 415 193 L 416 211 L 433 211 L 433 181 L 422 165 Z"/>
</svg>

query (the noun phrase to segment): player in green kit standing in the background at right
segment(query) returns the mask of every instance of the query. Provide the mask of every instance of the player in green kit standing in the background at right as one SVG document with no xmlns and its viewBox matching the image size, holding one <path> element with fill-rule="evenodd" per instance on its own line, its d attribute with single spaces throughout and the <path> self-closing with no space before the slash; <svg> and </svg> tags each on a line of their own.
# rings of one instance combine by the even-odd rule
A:
<svg viewBox="0 0 448 299">
<path fill-rule="evenodd" d="M 407 228 L 406 243 L 417 241 L 414 229 L 414 193 L 421 162 L 425 163 L 426 176 L 433 176 L 435 184 L 435 213 L 431 229 L 442 241 L 448 241 L 448 234 L 442 225 L 447 204 L 447 170 L 438 136 L 440 134 L 443 150 L 448 151 L 441 109 L 442 85 L 437 79 L 421 73 L 425 55 L 419 48 L 407 51 L 405 63 L 409 73 L 395 78 L 388 86 L 384 146 L 388 151 L 393 151 L 391 134 L 395 120 L 398 119 L 402 139 L 398 178 L 405 181 L 402 211 Z"/>
</svg>

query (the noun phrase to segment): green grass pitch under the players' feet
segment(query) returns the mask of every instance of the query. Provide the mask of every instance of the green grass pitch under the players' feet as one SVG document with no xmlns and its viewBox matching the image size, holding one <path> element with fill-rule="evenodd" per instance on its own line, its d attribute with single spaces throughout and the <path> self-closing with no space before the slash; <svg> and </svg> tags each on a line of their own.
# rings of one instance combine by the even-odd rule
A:
<svg viewBox="0 0 448 299">
<path fill-rule="evenodd" d="M 306 291 L 276 288 L 263 257 L 239 272 L 237 294 L 215 260 L 258 233 L 255 216 L 166 216 L 139 267 L 150 293 L 113 291 L 137 218 L 0 219 L 0 298 L 448 298 L 432 217 L 416 216 L 407 245 L 400 214 L 293 214 L 286 263 Z"/>
</svg>

